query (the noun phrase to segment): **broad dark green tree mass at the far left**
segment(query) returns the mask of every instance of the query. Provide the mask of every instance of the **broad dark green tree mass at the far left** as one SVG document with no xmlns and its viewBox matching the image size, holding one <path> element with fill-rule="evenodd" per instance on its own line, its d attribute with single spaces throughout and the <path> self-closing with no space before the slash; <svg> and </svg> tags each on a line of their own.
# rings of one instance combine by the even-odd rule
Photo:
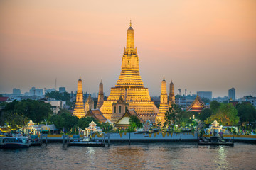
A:
<svg viewBox="0 0 256 170">
<path fill-rule="evenodd" d="M 49 103 L 31 99 L 7 103 L 4 112 L 23 115 L 24 117 L 31 119 L 34 123 L 41 123 L 53 113 Z"/>
</svg>

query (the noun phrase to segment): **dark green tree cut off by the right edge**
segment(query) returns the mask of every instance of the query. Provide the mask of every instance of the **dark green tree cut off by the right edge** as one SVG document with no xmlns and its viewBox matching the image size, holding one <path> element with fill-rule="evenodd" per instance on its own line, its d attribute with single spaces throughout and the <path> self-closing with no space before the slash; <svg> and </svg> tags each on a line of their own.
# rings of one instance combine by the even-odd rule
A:
<svg viewBox="0 0 256 170">
<path fill-rule="evenodd" d="M 254 122 L 256 120 L 256 110 L 250 103 L 238 103 L 235 108 L 238 110 L 240 121 Z"/>
</svg>

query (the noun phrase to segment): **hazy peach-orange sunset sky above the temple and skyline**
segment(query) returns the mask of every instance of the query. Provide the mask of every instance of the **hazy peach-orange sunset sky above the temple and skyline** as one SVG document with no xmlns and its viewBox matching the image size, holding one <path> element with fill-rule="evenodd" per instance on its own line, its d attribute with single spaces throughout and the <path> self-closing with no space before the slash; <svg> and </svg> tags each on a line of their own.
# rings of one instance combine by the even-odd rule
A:
<svg viewBox="0 0 256 170">
<path fill-rule="evenodd" d="M 65 86 L 110 94 L 129 20 L 144 86 L 256 96 L 256 1 L 0 1 L 0 93 Z M 168 88 L 169 89 L 169 88 Z M 168 90 L 169 91 L 169 90 Z"/>
</svg>

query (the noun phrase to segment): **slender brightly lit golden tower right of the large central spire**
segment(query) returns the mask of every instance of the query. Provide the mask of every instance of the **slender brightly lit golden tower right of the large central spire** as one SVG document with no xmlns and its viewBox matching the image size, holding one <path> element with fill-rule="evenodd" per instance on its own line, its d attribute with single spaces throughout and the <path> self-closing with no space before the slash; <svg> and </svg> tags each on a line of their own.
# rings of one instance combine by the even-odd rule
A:
<svg viewBox="0 0 256 170">
<path fill-rule="evenodd" d="M 160 107 L 159 113 L 157 113 L 156 123 L 164 124 L 164 116 L 166 111 L 168 111 L 168 96 L 166 91 L 166 81 L 163 79 L 161 83 L 161 96 L 160 96 Z"/>
</svg>

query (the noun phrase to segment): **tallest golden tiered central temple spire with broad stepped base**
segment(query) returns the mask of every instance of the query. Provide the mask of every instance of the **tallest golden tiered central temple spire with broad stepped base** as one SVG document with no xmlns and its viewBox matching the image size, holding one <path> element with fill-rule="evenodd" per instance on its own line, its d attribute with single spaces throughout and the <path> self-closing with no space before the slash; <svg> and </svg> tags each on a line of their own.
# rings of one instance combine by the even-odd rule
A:
<svg viewBox="0 0 256 170">
<path fill-rule="evenodd" d="M 120 97 L 122 96 L 122 98 Z M 117 107 L 118 106 L 118 107 Z M 123 108 L 124 107 L 124 108 Z M 110 96 L 104 101 L 100 111 L 113 123 L 128 109 L 134 109 L 142 120 L 155 121 L 158 108 L 149 96 L 139 74 L 139 57 L 134 47 L 134 29 L 132 23 L 127 30 L 127 45 L 122 56 L 121 74 L 117 84 L 111 88 Z"/>
</svg>

